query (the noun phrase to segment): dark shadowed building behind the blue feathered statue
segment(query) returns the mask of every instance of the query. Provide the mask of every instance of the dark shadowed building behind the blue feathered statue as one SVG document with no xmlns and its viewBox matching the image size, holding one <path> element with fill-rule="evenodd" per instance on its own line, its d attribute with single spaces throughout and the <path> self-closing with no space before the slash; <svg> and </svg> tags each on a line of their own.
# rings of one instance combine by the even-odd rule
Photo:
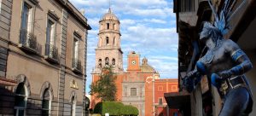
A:
<svg viewBox="0 0 256 116">
<path fill-rule="evenodd" d="M 183 83 L 182 78 L 186 73 L 194 69 L 195 61 L 205 54 L 203 50 L 205 45 L 200 42 L 198 33 L 201 32 L 202 22 L 213 21 L 213 16 L 212 10 L 206 0 L 174 0 L 173 2 L 174 13 L 177 15 L 177 32 L 179 37 L 178 80 L 181 87 Z M 211 2 L 219 13 L 219 9 L 224 5 L 224 0 L 212 0 Z M 253 31 L 256 27 L 256 1 L 237 1 L 234 9 L 239 4 L 241 4 L 241 9 L 238 9 L 236 14 L 230 19 L 231 30 L 224 38 L 230 38 L 236 42 L 252 61 L 253 69 L 246 73 L 246 76 L 254 94 L 256 93 L 254 78 L 256 75 L 256 47 L 254 45 L 256 35 Z M 208 84 L 206 76 L 191 94 L 183 92 L 182 88 L 180 90 L 179 93 L 166 94 L 169 107 L 179 108 L 184 115 L 191 116 L 215 116 L 220 112 L 222 107 L 220 97 L 218 96 L 217 90 L 211 84 Z M 253 96 L 253 106 L 255 106 L 255 98 Z M 253 107 L 253 113 L 251 115 L 255 114 L 256 107 Z"/>
</svg>

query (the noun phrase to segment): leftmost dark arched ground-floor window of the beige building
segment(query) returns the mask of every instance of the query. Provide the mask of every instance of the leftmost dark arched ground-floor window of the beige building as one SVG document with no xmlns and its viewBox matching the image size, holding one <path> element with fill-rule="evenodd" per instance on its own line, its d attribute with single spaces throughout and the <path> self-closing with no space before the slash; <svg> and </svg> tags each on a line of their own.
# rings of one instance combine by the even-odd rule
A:
<svg viewBox="0 0 256 116">
<path fill-rule="evenodd" d="M 15 116 L 24 116 L 26 109 L 26 87 L 20 83 L 15 91 Z"/>
</svg>

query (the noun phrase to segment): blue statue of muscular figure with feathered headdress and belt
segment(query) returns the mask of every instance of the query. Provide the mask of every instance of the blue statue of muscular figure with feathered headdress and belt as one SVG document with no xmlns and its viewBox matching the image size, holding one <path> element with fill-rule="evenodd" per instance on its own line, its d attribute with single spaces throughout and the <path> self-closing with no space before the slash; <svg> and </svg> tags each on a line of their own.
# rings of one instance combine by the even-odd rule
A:
<svg viewBox="0 0 256 116">
<path fill-rule="evenodd" d="M 208 2 L 215 21 L 213 25 L 205 22 L 200 33 L 201 41 L 207 45 L 207 53 L 183 79 L 183 86 L 191 92 L 195 89 L 196 81 L 198 82 L 202 75 L 207 75 L 209 82 L 217 88 L 223 100 L 219 116 L 248 115 L 252 111 L 253 96 L 244 73 L 252 69 L 253 65 L 236 43 L 224 38 L 224 34 L 230 30 L 230 18 L 236 14 L 230 13 L 236 0 L 226 0 L 219 15 L 211 2 Z"/>
</svg>

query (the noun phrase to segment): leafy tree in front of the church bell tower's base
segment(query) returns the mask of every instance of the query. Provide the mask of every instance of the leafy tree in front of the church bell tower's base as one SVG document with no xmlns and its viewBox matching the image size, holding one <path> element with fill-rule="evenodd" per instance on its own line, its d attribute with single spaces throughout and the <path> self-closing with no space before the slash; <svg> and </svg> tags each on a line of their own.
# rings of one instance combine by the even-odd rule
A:
<svg viewBox="0 0 256 116">
<path fill-rule="evenodd" d="M 90 84 L 90 95 L 102 99 L 103 102 L 115 101 L 117 87 L 115 84 L 116 76 L 113 67 L 102 67 L 100 79 L 96 83 Z"/>
</svg>

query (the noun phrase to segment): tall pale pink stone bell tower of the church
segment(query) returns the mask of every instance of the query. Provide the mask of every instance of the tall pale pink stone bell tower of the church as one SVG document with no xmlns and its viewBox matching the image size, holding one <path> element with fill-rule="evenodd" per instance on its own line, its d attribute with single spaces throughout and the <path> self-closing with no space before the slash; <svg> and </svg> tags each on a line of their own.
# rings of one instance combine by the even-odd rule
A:
<svg viewBox="0 0 256 116">
<path fill-rule="evenodd" d="M 102 67 L 112 66 L 113 72 L 123 72 L 123 52 L 120 47 L 119 19 L 111 9 L 99 21 L 98 44 L 94 73 Z"/>
</svg>

